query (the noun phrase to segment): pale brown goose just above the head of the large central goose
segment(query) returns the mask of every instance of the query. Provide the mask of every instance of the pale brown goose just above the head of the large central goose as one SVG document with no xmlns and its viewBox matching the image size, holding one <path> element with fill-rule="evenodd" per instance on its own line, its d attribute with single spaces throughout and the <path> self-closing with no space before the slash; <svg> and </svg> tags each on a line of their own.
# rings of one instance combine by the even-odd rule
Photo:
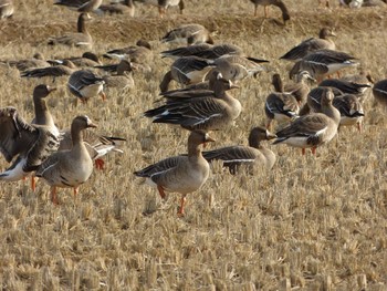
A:
<svg viewBox="0 0 387 291">
<path fill-rule="evenodd" d="M 269 61 L 253 58 L 244 58 L 240 55 L 222 55 L 213 61 L 216 70 L 220 72 L 224 79 L 238 82 L 249 76 L 254 76 L 265 71 L 260 63 Z"/>
</svg>

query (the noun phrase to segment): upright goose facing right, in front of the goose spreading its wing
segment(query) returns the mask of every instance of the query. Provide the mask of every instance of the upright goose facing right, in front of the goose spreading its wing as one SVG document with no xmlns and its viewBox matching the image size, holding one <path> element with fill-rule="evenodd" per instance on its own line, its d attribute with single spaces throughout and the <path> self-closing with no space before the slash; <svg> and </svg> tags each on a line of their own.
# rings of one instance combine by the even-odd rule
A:
<svg viewBox="0 0 387 291">
<path fill-rule="evenodd" d="M 93 160 L 83 143 L 82 131 L 96 127 L 86 115 L 76 116 L 71 124 L 73 147 L 61 150 L 46 158 L 35 172 L 51 186 L 51 200 L 57 205 L 56 187 L 71 187 L 74 195 L 79 186 L 85 183 L 93 173 Z"/>
</svg>

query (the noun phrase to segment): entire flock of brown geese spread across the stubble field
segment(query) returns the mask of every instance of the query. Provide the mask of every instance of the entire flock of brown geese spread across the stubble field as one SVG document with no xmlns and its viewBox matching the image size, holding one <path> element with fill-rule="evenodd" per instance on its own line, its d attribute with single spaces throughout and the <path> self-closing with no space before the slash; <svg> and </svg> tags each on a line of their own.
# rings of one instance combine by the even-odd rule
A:
<svg viewBox="0 0 387 291">
<path fill-rule="evenodd" d="M 251 2 L 255 6 L 255 14 L 259 4 L 265 8 L 274 4 L 282 10 L 284 21 L 290 19 L 289 10 L 280 0 Z M 11 1 L 0 0 L 2 18 L 12 14 L 7 10 L 10 6 L 7 3 Z M 133 1 L 103 6 L 101 0 L 59 0 L 55 4 L 80 12 L 77 32 L 50 38 L 48 45 L 91 50 L 93 39 L 86 25 L 88 12 L 111 9 L 109 13 L 114 13 L 112 7 L 130 8 Z M 184 9 L 182 0 L 158 1 L 160 15 L 169 6 L 179 6 L 181 11 Z M 336 136 L 339 126 L 355 125 L 362 131 L 363 103 L 369 89 L 373 87 L 377 101 L 387 105 L 387 80 L 375 83 L 366 71 L 342 77 L 341 70 L 359 65 L 359 60 L 337 51 L 333 37 L 335 33 L 331 28 L 323 28 L 318 38 L 304 40 L 280 58 L 293 62 L 289 72 L 293 81 L 283 84 L 281 76 L 273 74 L 274 90 L 264 103 L 265 127 L 251 129 L 249 146 L 236 145 L 202 152 L 202 145 L 215 142 L 209 132 L 229 128 L 242 111 L 242 104 L 230 92 L 234 92 L 244 79 L 268 72 L 264 66 L 268 61 L 249 56 L 233 44 L 215 44 L 211 33 L 200 24 L 182 24 L 168 31 L 161 42 L 175 49 L 163 51 L 160 56 L 172 60 L 170 70 L 160 80 L 161 100 L 144 115 L 153 123 L 178 125 L 190 131 L 188 150 L 185 155 L 168 157 L 134 174 L 155 186 L 161 198 L 166 197 L 166 191 L 181 194 L 178 215 L 184 215 L 187 194 L 206 183 L 212 160 L 222 160 L 231 174 L 240 170 L 241 165 L 245 165 L 248 170 L 270 169 L 275 164 L 275 154 L 262 145 L 263 141 L 273 139 L 274 145 L 299 147 L 303 154 L 311 148 L 315 154 L 317 147 Z M 36 54 L 33 59 L 2 63 L 17 67 L 22 77 L 66 75 L 69 91 L 83 103 L 98 95 L 105 98 L 105 91 L 109 89 L 127 92 L 134 86 L 133 70 L 151 70 L 153 51 L 144 40 L 108 51 L 104 56 L 118 59 L 119 62 L 101 64 L 98 56 L 87 51 L 82 56 L 63 60 L 44 60 Z M 101 75 L 94 69 L 108 74 Z M 334 74 L 337 74 L 337 79 L 332 77 Z M 181 89 L 170 90 L 171 82 Z M 310 82 L 317 82 L 318 86 L 311 90 Z M 25 122 L 15 107 L 0 108 L 0 150 L 6 160 L 12 163 L 0 174 L 0 180 L 21 180 L 32 174 L 32 188 L 35 187 L 34 177 L 43 178 L 51 186 L 51 200 L 59 204 L 57 187 L 73 188 L 76 195 L 80 185 L 92 175 L 93 164 L 103 168 L 101 157 L 112 150 L 122 152 L 117 142 L 125 138 L 85 131 L 96 127 L 86 115 L 76 116 L 69 129 L 59 129 L 45 102 L 54 90 L 44 84 L 33 90 L 35 118 L 31 123 Z M 270 132 L 273 122 L 280 128 L 275 134 Z"/>
</svg>

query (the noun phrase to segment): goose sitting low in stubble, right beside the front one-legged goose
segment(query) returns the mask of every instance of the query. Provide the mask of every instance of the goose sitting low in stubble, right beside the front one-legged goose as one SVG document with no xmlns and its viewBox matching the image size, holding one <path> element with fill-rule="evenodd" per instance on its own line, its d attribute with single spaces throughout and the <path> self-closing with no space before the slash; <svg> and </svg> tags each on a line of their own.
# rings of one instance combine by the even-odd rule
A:
<svg viewBox="0 0 387 291">
<path fill-rule="evenodd" d="M 265 128 L 253 127 L 249 135 L 249 146 L 228 146 L 203 152 L 202 155 L 209 163 L 221 159 L 223 167 L 228 167 L 230 174 L 237 174 L 241 165 L 250 165 L 257 169 L 271 169 L 275 163 L 275 155 L 261 145 L 261 142 L 275 137 L 276 135 Z"/>
</svg>

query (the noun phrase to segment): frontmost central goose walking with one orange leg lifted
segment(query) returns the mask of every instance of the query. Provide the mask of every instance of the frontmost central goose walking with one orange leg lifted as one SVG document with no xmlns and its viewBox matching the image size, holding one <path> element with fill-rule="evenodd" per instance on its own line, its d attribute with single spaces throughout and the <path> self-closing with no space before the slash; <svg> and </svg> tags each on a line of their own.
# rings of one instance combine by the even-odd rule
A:
<svg viewBox="0 0 387 291">
<path fill-rule="evenodd" d="M 200 145 L 215 142 L 203 132 L 191 132 L 188 137 L 188 155 L 174 156 L 134 173 L 157 187 L 163 199 L 165 191 L 181 194 L 178 215 L 184 215 L 186 196 L 198 190 L 208 179 L 210 166 L 201 155 Z"/>
</svg>

